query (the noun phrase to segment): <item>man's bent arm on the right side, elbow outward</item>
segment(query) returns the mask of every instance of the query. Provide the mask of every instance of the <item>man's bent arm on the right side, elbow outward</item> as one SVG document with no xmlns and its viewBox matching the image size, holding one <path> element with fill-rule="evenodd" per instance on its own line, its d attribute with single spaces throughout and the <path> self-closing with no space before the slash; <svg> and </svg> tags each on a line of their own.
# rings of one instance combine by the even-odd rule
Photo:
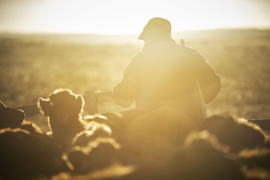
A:
<svg viewBox="0 0 270 180">
<path fill-rule="evenodd" d="M 199 54 L 201 62 L 201 76 L 199 84 L 202 90 L 205 104 L 211 103 L 218 95 L 222 88 L 220 76 L 216 74 L 215 70 L 208 64 L 203 55 Z"/>
</svg>

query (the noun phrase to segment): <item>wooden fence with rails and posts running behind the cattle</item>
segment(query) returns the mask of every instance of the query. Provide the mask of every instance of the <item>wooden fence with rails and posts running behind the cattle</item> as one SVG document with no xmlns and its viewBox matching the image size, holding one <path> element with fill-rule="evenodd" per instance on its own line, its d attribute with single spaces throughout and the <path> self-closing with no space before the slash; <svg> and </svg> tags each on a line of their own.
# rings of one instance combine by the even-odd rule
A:
<svg viewBox="0 0 270 180">
<path fill-rule="evenodd" d="M 85 105 L 89 115 L 94 115 L 98 113 L 98 104 L 102 102 L 113 101 L 112 90 L 95 93 L 94 89 L 84 91 Z M 26 116 L 40 114 L 40 110 L 37 104 L 22 106 L 15 109 L 20 109 L 24 111 Z M 207 118 L 205 102 L 202 96 L 202 91 L 199 83 L 195 83 L 195 112 L 197 112 L 197 119 L 200 120 L 198 123 L 202 123 Z M 270 130 L 270 119 L 252 119 L 248 120 L 259 125 L 263 130 Z"/>
</svg>

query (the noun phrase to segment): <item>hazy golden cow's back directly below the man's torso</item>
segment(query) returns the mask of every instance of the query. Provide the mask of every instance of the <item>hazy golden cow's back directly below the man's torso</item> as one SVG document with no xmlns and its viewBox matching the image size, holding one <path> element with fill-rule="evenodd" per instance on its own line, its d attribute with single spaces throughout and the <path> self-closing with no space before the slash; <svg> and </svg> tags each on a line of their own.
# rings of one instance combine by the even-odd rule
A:
<svg viewBox="0 0 270 180">
<path fill-rule="evenodd" d="M 129 134 L 157 136 L 181 144 L 187 134 L 196 128 L 196 123 L 188 116 L 165 106 L 135 117 L 128 131 Z"/>
</svg>

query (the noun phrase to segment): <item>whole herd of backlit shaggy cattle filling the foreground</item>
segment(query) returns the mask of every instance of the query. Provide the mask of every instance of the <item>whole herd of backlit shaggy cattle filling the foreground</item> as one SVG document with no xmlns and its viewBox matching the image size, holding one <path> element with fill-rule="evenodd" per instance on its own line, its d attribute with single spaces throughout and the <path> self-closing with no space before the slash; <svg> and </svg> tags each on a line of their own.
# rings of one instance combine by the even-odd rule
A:
<svg viewBox="0 0 270 180">
<path fill-rule="evenodd" d="M 0 179 L 270 179 L 270 138 L 247 120 L 202 126 L 171 107 L 82 117 L 84 100 L 58 89 L 38 106 L 50 132 L 0 104 Z"/>
</svg>

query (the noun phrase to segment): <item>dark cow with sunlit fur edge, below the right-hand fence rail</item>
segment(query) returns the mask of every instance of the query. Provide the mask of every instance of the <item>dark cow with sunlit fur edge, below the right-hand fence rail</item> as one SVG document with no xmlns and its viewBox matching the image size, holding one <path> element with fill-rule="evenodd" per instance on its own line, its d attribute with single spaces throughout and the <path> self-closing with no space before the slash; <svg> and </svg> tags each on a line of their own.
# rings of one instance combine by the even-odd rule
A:
<svg viewBox="0 0 270 180">
<path fill-rule="evenodd" d="M 203 129 L 215 134 L 220 143 L 229 145 L 231 152 L 263 147 L 269 140 L 258 125 L 233 117 L 209 117 L 204 122 Z"/>
</svg>

